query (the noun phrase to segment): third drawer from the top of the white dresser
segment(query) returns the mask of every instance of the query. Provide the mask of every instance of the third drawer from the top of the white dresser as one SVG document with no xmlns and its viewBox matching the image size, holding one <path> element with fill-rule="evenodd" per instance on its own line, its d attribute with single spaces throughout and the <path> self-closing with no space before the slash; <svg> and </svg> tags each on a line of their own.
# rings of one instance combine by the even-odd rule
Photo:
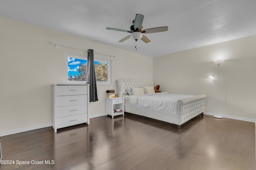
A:
<svg viewBox="0 0 256 170">
<path fill-rule="evenodd" d="M 87 104 L 56 107 L 56 117 L 65 117 L 65 116 L 87 113 L 88 112 L 87 108 L 88 108 Z"/>
</svg>

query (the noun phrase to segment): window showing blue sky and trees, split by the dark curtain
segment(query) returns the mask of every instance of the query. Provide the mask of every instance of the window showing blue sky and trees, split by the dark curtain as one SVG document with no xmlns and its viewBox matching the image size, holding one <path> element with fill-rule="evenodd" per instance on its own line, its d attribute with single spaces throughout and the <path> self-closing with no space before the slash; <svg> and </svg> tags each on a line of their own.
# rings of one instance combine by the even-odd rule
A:
<svg viewBox="0 0 256 170">
<path fill-rule="evenodd" d="M 87 76 L 87 57 L 65 54 L 66 82 L 85 83 Z M 111 84 L 111 61 L 94 58 L 97 84 Z"/>
</svg>

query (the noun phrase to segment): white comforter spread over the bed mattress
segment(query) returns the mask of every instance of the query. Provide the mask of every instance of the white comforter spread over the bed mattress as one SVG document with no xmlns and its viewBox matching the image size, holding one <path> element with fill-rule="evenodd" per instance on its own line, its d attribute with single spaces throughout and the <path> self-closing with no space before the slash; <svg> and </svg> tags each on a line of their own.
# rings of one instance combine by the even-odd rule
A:
<svg viewBox="0 0 256 170">
<path fill-rule="evenodd" d="M 169 94 L 167 92 L 134 95 L 130 97 L 130 105 L 176 114 L 177 101 L 190 97 L 193 95 Z"/>
</svg>

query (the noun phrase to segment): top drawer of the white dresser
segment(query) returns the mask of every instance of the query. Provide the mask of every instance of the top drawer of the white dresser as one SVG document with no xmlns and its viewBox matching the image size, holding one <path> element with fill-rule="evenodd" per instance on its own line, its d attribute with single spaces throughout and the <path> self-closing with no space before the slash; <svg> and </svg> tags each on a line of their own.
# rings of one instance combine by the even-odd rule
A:
<svg viewBox="0 0 256 170">
<path fill-rule="evenodd" d="M 87 85 L 57 85 L 56 96 L 88 94 Z"/>
</svg>

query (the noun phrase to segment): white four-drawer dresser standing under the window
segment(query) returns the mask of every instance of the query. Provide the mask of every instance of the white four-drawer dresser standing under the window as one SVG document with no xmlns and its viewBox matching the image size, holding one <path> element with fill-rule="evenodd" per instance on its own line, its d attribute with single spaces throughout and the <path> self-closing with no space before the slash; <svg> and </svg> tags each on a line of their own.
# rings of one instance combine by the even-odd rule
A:
<svg viewBox="0 0 256 170">
<path fill-rule="evenodd" d="M 90 124 L 88 84 L 52 86 L 52 127 L 54 132 L 62 127 Z"/>
</svg>

